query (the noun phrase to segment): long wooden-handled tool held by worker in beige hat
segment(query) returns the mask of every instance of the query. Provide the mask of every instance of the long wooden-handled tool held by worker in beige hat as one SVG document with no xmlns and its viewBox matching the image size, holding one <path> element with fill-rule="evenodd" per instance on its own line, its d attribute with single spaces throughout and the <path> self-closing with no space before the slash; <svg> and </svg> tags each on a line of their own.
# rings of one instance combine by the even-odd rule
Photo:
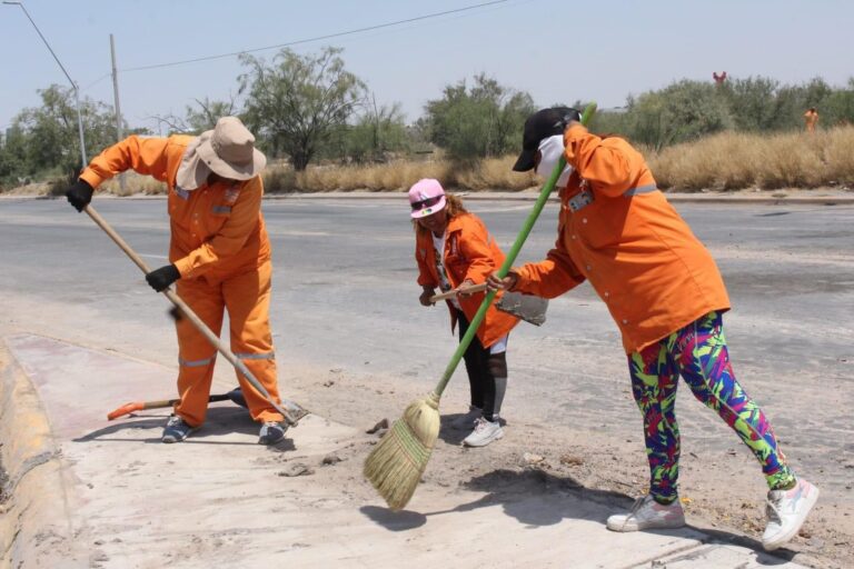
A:
<svg viewBox="0 0 854 569">
<path fill-rule="evenodd" d="M 92 218 L 92 221 L 95 221 L 98 227 L 103 229 L 103 231 L 110 236 L 110 239 L 112 239 L 113 242 L 119 246 L 119 249 L 125 251 L 125 253 L 130 257 L 130 260 L 133 261 L 133 263 L 139 267 L 142 272 L 151 272 L 151 269 L 148 267 L 148 264 L 146 264 L 146 261 L 143 261 L 142 258 L 140 258 L 136 251 L 133 251 L 133 249 L 131 249 L 130 246 L 125 242 L 121 236 L 117 233 L 115 229 L 112 229 L 112 227 L 107 222 L 106 219 L 101 217 L 100 213 L 98 213 L 98 211 L 96 211 L 91 203 L 83 208 L 83 211 L 86 211 L 89 217 Z M 274 409 L 281 413 L 281 416 L 285 418 L 285 422 L 288 423 L 289 427 L 296 427 L 299 422 L 299 419 L 308 415 L 306 409 L 294 401 L 282 399 L 281 405 L 274 401 L 269 391 L 267 391 L 261 382 L 258 381 L 251 371 L 249 371 L 249 368 L 246 367 L 246 363 L 239 360 L 237 356 L 231 353 L 231 350 L 222 345 L 222 342 L 219 340 L 219 337 L 215 335 L 210 328 L 208 328 L 208 325 L 206 325 L 201 318 L 199 318 L 196 312 L 193 312 L 190 307 L 187 306 L 187 303 L 181 300 L 181 298 L 171 288 L 167 288 L 162 292 L 163 296 L 166 296 L 166 298 L 168 298 L 169 301 L 180 311 L 181 316 L 187 317 L 187 319 L 192 322 L 196 329 L 217 349 L 217 351 L 219 351 L 219 353 L 221 353 L 229 361 L 229 363 L 231 363 L 235 369 L 237 369 L 237 371 L 239 371 L 246 378 L 246 380 L 249 381 L 249 383 L 251 383 L 251 386 L 258 390 L 261 397 L 264 397 L 274 407 Z"/>
</svg>

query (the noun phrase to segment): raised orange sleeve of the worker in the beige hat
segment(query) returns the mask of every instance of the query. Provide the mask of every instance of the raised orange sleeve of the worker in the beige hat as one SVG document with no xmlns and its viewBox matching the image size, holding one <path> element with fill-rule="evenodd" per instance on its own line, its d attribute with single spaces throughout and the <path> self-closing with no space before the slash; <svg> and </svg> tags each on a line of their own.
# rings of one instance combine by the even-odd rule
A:
<svg viewBox="0 0 854 569">
<path fill-rule="evenodd" d="M 168 146 L 167 138 L 140 138 L 133 134 L 95 157 L 80 178 L 97 188 L 117 173 L 132 169 L 165 182 Z"/>
</svg>

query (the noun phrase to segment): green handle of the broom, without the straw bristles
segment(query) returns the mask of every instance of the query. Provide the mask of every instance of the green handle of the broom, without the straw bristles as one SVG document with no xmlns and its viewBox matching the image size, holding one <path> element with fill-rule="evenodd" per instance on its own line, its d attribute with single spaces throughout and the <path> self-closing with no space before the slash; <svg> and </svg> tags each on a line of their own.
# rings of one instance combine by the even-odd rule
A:
<svg viewBox="0 0 854 569">
<path fill-rule="evenodd" d="M 596 103 L 592 102 L 584 109 L 584 114 L 582 114 L 582 124 L 587 126 L 587 123 L 590 121 L 590 118 L 593 118 L 594 112 L 596 112 Z M 534 203 L 534 209 L 532 209 L 530 213 L 528 213 L 528 217 L 525 220 L 525 223 L 523 223 L 522 226 L 522 230 L 519 231 L 519 234 L 516 237 L 516 241 L 513 243 L 513 247 L 507 253 L 507 257 L 504 259 L 504 263 L 502 263 L 502 267 L 498 269 L 498 277 L 500 278 L 506 277 L 507 272 L 509 272 L 510 270 L 510 267 L 513 267 L 513 263 L 516 262 L 516 257 L 518 257 L 519 251 L 522 250 L 522 246 L 525 244 L 525 240 L 528 238 L 528 234 L 530 234 L 530 230 L 534 229 L 534 223 L 537 221 L 539 213 L 543 211 L 543 208 L 546 206 L 546 201 L 548 201 L 548 197 L 555 190 L 555 184 L 557 183 L 557 179 L 560 178 L 560 173 L 564 171 L 565 167 L 566 167 L 566 159 L 563 156 L 560 156 L 560 159 L 557 161 L 557 166 L 555 166 L 555 169 L 552 170 L 552 176 L 548 177 L 546 184 L 543 186 L 543 189 L 539 191 L 539 197 L 537 198 L 537 201 Z M 466 353 L 466 350 L 468 349 L 468 345 L 471 343 L 471 340 L 477 333 L 477 329 L 480 327 L 480 322 L 484 321 L 484 316 L 486 316 L 486 311 L 489 309 L 489 306 L 493 303 L 493 300 L 495 300 L 495 296 L 497 293 L 498 293 L 497 290 L 490 290 L 489 292 L 487 292 L 486 297 L 484 298 L 484 301 L 480 302 L 480 308 L 477 309 L 477 313 L 475 315 L 475 318 L 471 319 L 471 322 L 468 325 L 468 329 L 466 330 L 466 333 L 463 335 L 463 339 L 459 340 L 459 346 L 457 346 L 457 350 L 454 352 L 454 356 L 451 356 L 450 361 L 448 362 L 448 367 L 445 368 L 445 373 L 443 373 L 441 379 L 439 380 L 439 383 L 436 386 L 436 389 L 434 389 L 433 391 L 436 395 L 437 399 L 440 398 L 441 393 L 445 391 L 445 388 L 447 387 L 448 381 L 450 381 L 450 377 L 454 375 L 454 371 L 457 369 L 457 366 L 459 365 L 459 360 L 461 360 L 463 355 Z"/>
</svg>

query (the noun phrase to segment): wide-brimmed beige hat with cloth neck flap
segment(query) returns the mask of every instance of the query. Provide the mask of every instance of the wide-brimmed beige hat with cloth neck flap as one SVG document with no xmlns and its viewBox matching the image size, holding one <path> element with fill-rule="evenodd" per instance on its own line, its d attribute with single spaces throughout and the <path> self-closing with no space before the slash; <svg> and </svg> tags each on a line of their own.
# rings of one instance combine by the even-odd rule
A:
<svg viewBox="0 0 854 569">
<path fill-rule="evenodd" d="M 214 130 L 202 132 L 183 153 L 176 183 L 185 190 L 202 186 L 210 172 L 231 180 L 248 180 L 267 166 L 255 148 L 255 137 L 237 117 L 222 117 Z"/>
</svg>

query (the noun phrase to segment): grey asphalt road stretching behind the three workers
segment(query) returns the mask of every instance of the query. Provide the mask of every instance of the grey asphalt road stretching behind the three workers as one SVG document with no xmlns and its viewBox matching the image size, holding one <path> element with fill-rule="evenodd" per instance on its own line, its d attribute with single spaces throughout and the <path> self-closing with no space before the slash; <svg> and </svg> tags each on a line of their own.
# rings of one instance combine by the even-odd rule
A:
<svg viewBox="0 0 854 569">
<path fill-rule="evenodd" d="M 152 268 L 167 262 L 163 200 L 95 203 Z M 346 370 L 365 381 L 419 382 L 425 390 L 438 380 L 455 340 L 443 307 L 418 305 L 406 206 L 403 198 L 265 202 L 284 385 L 289 361 Z M 530 202 L 468 206 L 506 250 Z M 854 208 L 677 209 L 718 261 L 734 308 L 725 330 L 736 375 L 767 406 L 787 450 L 851 459 Z M 548 204 L 520 261 L 540 259 L 553 244 L 556 216 Z M 173 365 L 166 300 L 86 214 L 63 200 L 3 200 L 0 242 L 0 331 L 44 333 Z M 544 327 L 519 326 L 508 365 L 505 416 L 637 429 L 616 327 L 588 286 L 552 301 Z M 229 375 L 220 365 L 218 377 Z M 464 373 L 450 391 L 464 399 Z M 719 441 L 719 430 L 705 432 L 709 421 L 719 421 L 697 408 L 682 416 L 699 427 L 696 436 L 734 446 L 734 439 Z"/>
</svg>

